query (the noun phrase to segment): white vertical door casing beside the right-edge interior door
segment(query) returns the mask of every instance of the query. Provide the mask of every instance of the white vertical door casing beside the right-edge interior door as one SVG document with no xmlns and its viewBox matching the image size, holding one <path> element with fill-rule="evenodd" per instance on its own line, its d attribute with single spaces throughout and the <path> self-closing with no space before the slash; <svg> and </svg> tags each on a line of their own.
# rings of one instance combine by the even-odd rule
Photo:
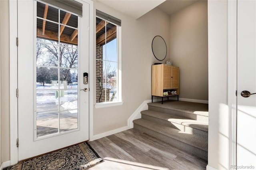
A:
<svg viewBox="0 0 256 170">
<path fill-rule="evenodd" d="M 237 121 L 237 0 L 228 1 L 229 167 L 236 165 Z"/>
</svg>

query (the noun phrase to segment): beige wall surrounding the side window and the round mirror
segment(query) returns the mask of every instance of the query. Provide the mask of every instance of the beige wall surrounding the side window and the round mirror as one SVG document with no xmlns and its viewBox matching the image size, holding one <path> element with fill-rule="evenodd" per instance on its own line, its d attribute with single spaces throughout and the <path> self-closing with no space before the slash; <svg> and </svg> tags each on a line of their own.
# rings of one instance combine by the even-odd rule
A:
<svg viewBox="0 0 256 170">
<path fill-rule="evenodd" d="M 152 53 L 151 43 L 157 35 L 164 38 L 168 52 L 162 63 L 166 63 L 170 56 L 170 17 L 158 8 L 137 20 L 97 1 L 94 1 L 94 8 L 122 20 L 122 101 L 124 101 L 121 106 L 94 109 L 93 133 L 97 135 L 126 127 L 132 113 L 145 100 L 151 99 L 151 65 L 159 62 Z M 96 82 L 96 79 L 94 81 Z"/>
</svg>

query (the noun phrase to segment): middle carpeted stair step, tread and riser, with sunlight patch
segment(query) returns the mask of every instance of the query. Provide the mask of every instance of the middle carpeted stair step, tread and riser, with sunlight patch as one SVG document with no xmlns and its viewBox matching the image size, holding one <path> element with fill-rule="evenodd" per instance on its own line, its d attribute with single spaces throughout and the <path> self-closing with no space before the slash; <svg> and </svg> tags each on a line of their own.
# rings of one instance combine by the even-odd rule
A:
<svg viewBox="0 0 256 170">
<path fill-rule="evenodd" d="M 208 122 L 206 121 L 196 121 L 151 110 L 142 111 L 141 114 L 142 119 L 208 138 Z"/>
</svg>

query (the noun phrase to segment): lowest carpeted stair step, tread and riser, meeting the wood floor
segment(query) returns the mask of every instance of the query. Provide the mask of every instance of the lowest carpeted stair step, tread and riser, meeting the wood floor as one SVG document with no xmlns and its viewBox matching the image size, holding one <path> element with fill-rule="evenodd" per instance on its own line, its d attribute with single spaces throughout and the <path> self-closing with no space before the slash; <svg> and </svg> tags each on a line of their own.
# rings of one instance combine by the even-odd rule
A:
<svg viewBox="0 0 256 170">
<path fill-rule="evenodd" d="M 133 121 L 134 128 L 146 134 L 159 138 L 173 146 L 185 150 L 190 154 L 207 160 L 208 138 L 203 138 L 195 134 L 181 132 L 179 129 L 159 125 L 154 121 L 136 119 Z"/>
</svg>

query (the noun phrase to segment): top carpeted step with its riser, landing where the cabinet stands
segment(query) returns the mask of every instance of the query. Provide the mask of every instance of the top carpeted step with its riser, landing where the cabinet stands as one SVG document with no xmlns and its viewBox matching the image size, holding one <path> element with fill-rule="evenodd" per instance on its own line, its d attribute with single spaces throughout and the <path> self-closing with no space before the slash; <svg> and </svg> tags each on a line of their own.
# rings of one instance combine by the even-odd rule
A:
<svg viewBox="0 0 256 170">
<path fill-rule="evenodd" d="M 148 103 L 148 110 L 208 122 L 208 104 L 204 103 L 169 100 Z"/>
</svg>

